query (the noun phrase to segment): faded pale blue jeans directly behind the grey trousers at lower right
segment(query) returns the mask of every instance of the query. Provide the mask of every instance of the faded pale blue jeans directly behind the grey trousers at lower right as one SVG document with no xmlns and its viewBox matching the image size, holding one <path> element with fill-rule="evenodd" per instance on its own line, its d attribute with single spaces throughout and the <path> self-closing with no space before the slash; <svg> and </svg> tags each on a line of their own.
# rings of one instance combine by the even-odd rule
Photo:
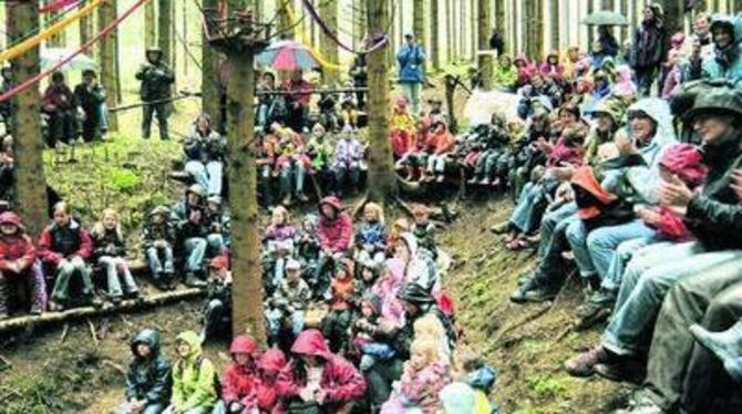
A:
<svg viewBox="0 0 742 414">
<path fill-rule="evenodd" d="M 688 242 L 657 248 L 651 256 L 643 256 L 639 260 L 647 260 L 647 270 L 638 277 L 627 273 L 624 278 L 616 312 L 602 334 L 604 346 L 620 355 L 648 350 L 655 321 L 670 288 L 686 278 L 703 277 L 707 270 L 739 255 L 740 250 L 704 252 L 699 244 Z M 650 262 L 656 265 L 647 265 Z"/>
</svg>

